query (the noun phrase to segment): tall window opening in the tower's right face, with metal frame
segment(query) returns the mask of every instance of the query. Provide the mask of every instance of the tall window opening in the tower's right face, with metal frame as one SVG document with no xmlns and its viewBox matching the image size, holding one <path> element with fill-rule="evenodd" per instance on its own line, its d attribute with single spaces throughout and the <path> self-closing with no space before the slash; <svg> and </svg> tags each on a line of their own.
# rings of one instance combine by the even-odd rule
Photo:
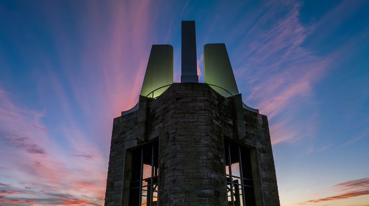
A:
<svg viewBox="0 0 369 206">
<path fill-rule="evenodd" d="M 227 196 L 230 206 L 255 206 L 250 149 L 224 141 Z"/>
</svg>

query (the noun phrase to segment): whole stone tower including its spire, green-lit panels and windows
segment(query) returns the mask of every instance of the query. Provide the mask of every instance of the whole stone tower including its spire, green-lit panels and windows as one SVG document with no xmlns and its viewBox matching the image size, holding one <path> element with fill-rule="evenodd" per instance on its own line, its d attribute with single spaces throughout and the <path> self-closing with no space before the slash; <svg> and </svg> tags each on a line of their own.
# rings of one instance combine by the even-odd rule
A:
<svg viewBox="0 0 369 206">
<path fill-rule="evenodd" d="M 173 47 L 153 45 L 137 105 L 114 119 L 106 206 L 279 206 L 268 120 L 242 102 L 224 44 L 204 46 L 182 21 Z"/>
</svg>

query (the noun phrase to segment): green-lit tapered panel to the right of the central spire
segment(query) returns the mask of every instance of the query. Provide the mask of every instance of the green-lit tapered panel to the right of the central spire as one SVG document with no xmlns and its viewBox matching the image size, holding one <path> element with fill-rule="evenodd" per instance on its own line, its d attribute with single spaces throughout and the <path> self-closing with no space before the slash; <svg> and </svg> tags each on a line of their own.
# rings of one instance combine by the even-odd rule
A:
<svg viewBox="0 0 369 206">
<path fill-rule="evenodd" d="M 225 97 L 239 94 L 225 44 L 205 45 L 203 57 L 205 83 Z"/>
</svg>

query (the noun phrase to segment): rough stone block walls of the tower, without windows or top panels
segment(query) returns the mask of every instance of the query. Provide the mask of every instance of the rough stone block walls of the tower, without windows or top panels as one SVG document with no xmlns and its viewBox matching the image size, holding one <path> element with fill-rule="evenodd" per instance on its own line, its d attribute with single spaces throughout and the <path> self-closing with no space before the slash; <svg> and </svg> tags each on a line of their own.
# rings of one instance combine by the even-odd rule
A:
<svg viewBox="0 0 369 206">
<path fill-rule="evenodd" d="M 159 140 L 159 206 L 226 206 L 224 138 L 251 147 L 256 205 L 279 206 L 268 120 L 203 83 L 173 83 L 114 119 L 105 205 L 128 206 L 131 148 Z M 123 183 L 123 184 L 122 184 Z"/>
</svg>

